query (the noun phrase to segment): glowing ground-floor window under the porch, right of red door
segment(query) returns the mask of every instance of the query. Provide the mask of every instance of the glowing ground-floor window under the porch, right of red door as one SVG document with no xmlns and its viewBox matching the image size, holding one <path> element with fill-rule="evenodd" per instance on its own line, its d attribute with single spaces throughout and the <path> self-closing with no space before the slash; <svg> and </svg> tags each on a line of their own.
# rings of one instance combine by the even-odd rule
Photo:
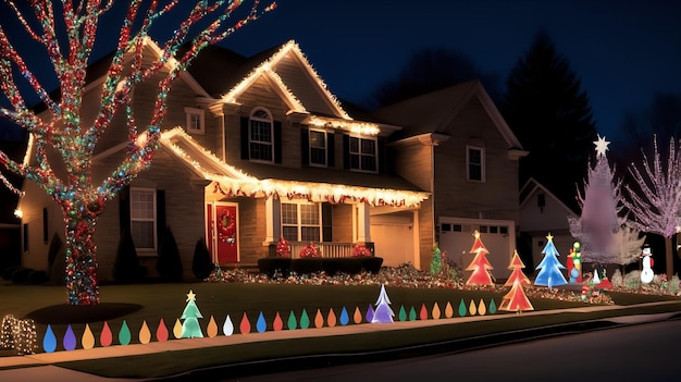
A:
<svg viewBox="0 0 681 382">
<path fill-rule="evenodd" d="M 321 241 L 321 205 L 282 204 L 282 234 L 290 242 Z"/>
</svg>

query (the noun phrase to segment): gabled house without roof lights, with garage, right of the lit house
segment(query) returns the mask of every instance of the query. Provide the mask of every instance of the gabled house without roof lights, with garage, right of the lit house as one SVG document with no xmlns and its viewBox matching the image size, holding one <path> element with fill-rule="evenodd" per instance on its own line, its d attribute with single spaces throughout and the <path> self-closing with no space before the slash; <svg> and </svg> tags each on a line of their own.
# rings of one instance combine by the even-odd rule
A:
<svg viewBox="0 0 681 382">
<path fill-rule="evenodd" d="M 527 152 L 481 83 L 433 91 L 375 115 L 404 127 L 389 144 L 395 172 L 431 194 L 418 211 L 422 268 L 435 243 L 468 267 L 478 230 L 493 275 L 507 278 L 519 222 L 518 160 Z"/>
</svg>

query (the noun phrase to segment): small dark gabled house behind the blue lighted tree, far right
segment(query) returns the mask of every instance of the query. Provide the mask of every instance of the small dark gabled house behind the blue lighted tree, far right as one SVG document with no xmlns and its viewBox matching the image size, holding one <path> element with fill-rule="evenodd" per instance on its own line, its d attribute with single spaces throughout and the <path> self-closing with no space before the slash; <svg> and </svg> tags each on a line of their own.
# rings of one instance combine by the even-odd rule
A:
<svg viewBox="0 0 681 382">
<path fill-rule="evenodd" d="M 542 261 L 544 257 L 542 250 L 546 245 L 548 234 L 554 236 L 554 245 L 560 254 L 560 263 L 566 264 L 567 257 L 575 242 L 570 234 L 568 217 L 579 218 L 579 213 L 575 212 L 577 201 L 571 205 L 574 206 L 562 201 L 535 178 L 531 177 L 525 182 L 520 190 L 520 225 L 518 227 L 520 241 L 525 244 L 523 249 L 530 250 L 530 254 L 522 254 L 520 250 L 519 254 L 523 256 L 523 259 L 532 259 L 532 262 L 525 261 L 525 267 L 534 269 Z"/>
</svg>

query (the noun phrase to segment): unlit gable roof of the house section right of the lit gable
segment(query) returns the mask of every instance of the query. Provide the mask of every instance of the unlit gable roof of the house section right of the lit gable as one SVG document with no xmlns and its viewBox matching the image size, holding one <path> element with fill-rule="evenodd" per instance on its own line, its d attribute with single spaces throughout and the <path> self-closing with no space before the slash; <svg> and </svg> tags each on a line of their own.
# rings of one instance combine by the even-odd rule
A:
<svg viewBox="0 0 681 382">
<path fill-rule="evenodd" d="M 380 119 L 404 126 L 396 138 L 428 133 L 443 134 L 451 120 L 473 98 L 478 98 L 511 149 L 522 149 L 480 81 L 470 81 L 413 97 L 374 111 Z"/>
</svg>

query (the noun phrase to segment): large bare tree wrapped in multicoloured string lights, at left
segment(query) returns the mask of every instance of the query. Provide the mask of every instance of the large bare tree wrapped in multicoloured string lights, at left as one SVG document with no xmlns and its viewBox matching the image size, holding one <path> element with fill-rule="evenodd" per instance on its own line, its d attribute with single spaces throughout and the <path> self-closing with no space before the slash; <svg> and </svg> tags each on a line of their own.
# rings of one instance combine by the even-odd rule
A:
<svg viewBox="0 0 681 382">
<path fill-rule="evenodd" d="M 36 182 L 60 206 L 66 236 L 66 288 L 72 305 L 98 304 L 95 223 L 106 204 L 124 186 L 148 168 L 159 147 L 160 127 L 166 114 L 166 98 L 174 81 L 186 71 L 199 51 L 216 44 L 248 22 L 272 10 L 274 3 L 260 8 L 255 0 L 250 11 L 243 12 L 235 23 L 239 0 L 198 1 L 184 8 L 174 34 L 158 46 L 162 52 L 149 61 L 144 54 L 151 27 L 178 12 L 179 1 L 131 0 L 122 17 L 117 46 L 101 85 L 98 110 L 84 110 L 83 97 L 90 53 L 97 36 L 107 38 L 110 30 L 99 32 L 99 23 L 111 14 L 113 0 L 89 1 L 11 1 L 0 17 L 0 88 L 9 107 L 0 107 L 0 118 L 23 127 L 30 134 L 36 165 L 11 160 L 0 152 L 0 164 Z M 12 40 L 7 33 L 9 21 L 18 21 L 24 35 Z M 12 36 L 12 38 L 11 38 Z M 42 49 L 58 81 L 59 95 L 46 88 L 37 73 L 17 52 L 15 46 L 33 40 Z M 143 57 L 144 56 L 144 57 Z M 150 122 L 138 126 L 132 106 L 136 85 L 153 82 L 157 88 Z M 26 90 L 24 84 L 28 87 Z M 45 106 L 46 116 L 38 116 L 28 104 L 35 95 Z M 88 115 L 94 115 L 88 118 Z M 103 181 L 91 177 L 92 155 L 114 116 L 125 121 L 127 156 Z M 55 164 L 57 163 L 57 164 Z M 64 175 L 58 168 L 64 168 Z M 61 176 L 60 176 L 61 175 Z M 5 181 L 3 178 L 3 181 Z M 12 187 L 13 188 L 13 187 Z M 15 192 L 16 188 L 13 188 Z"/>
</svg>

